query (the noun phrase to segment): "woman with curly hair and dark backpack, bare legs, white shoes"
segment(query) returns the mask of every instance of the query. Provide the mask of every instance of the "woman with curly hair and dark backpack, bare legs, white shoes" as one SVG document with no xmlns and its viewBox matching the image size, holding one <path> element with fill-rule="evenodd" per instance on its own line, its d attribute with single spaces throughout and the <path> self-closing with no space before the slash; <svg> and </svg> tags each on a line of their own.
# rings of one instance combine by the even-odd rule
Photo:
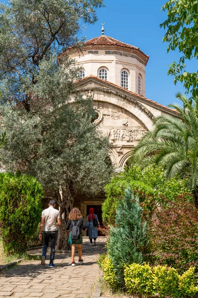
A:
<svg viewBox="0 0 198 298">
<path fill-rule="evenodd" d="M 78 208 L 73 208 L 69 213 L 69 220 L 67 223 L 67 230 L 69 230 L 68 244 L 71 245 L 71 266 L 76 266 L 76 263 L 74 261 L 76 244 L 78 248 L 78 263 L 83 263 L 81 246 L 83 243 L 82 229 L 86 229 L 83 217 Z"/>
</svg>

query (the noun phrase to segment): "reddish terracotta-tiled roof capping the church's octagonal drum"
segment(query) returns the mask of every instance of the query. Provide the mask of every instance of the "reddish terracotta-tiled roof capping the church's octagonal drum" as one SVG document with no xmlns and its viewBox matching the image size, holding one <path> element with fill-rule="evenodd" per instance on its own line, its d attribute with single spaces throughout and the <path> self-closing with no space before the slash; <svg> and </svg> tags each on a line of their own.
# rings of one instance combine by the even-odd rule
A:
<svg viewBox="0 0 198 298">
<path fill-rule="evenodd" d="M 145 65 L 147 65 L 147 62 L 149 59 L 149 56 L 147 56 L 144 52 L 142 52 L 140 48 L 134 47 L 132 45 L 121 42 L 115 38 L 112 38 L 106 35 L 100 35 L 99 37 L 95 37 L 84 42 L 83 51 L 100 50 L 100 49 L 118 50 L 118 51 L 124 51 L 124 52 L 130 53 L 130 54 L 136 54 L 144 61 Z M 69 47 L 65 52 L 67 54 L 73 54 L 75 52 L 79 52 L 79 49 L 76 47 Z M 59 56 L 61 56 L 61 54 Z"/>
</svg>

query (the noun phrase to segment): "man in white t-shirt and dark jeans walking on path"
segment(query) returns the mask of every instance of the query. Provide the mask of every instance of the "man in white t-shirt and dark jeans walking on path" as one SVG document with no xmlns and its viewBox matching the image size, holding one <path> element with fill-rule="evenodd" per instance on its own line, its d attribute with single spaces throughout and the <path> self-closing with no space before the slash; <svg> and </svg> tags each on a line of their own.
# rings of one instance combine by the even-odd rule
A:
<svg viewBox="0 0 198 298">
<path fill-rule="evenodd" d="M 46 254 L 47 249 L 49 246 L 49 239 L 50 239 L 50 260 L 49 260 L 49 268 L 54 268 L 55 265 L 53 264 L 53 260 L 55 257 L 55 244 L 56 238 L 58 234 L 57 225 L 61 225 L 60 221 L 60 214 L 59 211 L 54 209 L 56 204 L 55 200 L 49 201 L 49 208 L 45 209 L 41 215 L 41 224 L 40 224 L 40 231 L 39 231 L 39 239 L 42 239 L 42 230 L 44 228 L 44 246 L 43 246 L 43 253 L 41 256 L 41 264 L 46 265 Z"/>
</svg>

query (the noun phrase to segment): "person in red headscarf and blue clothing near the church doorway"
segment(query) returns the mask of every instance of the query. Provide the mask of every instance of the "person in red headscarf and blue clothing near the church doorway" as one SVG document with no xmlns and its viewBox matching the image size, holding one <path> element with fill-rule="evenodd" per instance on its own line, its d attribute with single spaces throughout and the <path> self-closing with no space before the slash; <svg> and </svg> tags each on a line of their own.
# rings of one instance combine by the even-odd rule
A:
<svg viewBox="0 0 198 298">
<path fill-rule="evenodd" d="M 94 239 L 94 246 L 96 246 L 96 239 L 98 238 L 98 226 L 99 220 L 97 214 L 94 214 L 94 208 L 90 208 L 90 214 L 87 217 L 86 227 L 88 229 L 88 235 L 90 239 L 90 245 L 93 245 L 92 240 Z"/>
</svg>

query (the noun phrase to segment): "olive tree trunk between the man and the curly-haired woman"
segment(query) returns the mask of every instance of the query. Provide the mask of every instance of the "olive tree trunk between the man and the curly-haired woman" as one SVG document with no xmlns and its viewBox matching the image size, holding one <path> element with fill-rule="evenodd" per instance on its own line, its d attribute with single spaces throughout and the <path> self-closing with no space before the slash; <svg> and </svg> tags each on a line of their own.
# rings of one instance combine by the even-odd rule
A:
<svg viewBox="0 0 198 298">
<path fill-rule="evenodd" d="M 58 228 L 58 239 L 56 243 L 57 250 L 68 250 L 68 236 L 69 233 L 66 230 L 66 224 L 68 221 L 69 212 L 73 208 L 74 199 L 71 195 L 69 186 L 66 190 L 59 188 L 57 193 L 57 203 L 59 206 L 61 226 Z"/>
</svg>

